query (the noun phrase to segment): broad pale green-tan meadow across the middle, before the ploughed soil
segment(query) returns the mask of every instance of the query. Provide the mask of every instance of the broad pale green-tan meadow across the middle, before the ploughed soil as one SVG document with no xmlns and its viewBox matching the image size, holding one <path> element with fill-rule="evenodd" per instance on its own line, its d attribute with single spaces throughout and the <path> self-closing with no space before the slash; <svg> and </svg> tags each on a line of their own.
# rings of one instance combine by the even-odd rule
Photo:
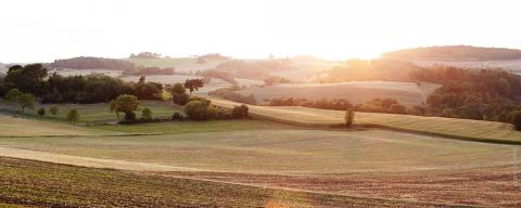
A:
<svg viewBox="0 0 521 208">
<path fill-rule="evenodd" d="M 282 130 L 0 138 L 0 145 L 193 170 L 272 174 L 450 170 L 510 165 L 512 147 L 382 130 Z M 383 159 L 384 158 L 384 159 Z M 334 167 L 334 169 L 332 169 Z"/>
</svg>

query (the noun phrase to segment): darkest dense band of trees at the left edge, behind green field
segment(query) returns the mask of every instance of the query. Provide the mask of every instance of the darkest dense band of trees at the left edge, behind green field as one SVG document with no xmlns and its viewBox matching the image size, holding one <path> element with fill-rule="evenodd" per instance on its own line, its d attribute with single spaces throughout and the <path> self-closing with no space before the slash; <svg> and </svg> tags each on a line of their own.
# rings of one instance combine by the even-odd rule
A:
<svg viewBox="0 0 521 208">
<path fill-rule="evenodd" d="M 145 82 L 144 79 L 141 77 L 137 83 L 125 83 L 104 75 L 48 76 L 41 64 L 14 65 L 9 68 L 5 78 L 0 80 L 0 96 L 11 89 L 17 89 L 34 94 L 42 103 L 101 103 L 120 94 L 134 94 L 142 100 L 161 99 L 163 86 Z"/>
</svg>

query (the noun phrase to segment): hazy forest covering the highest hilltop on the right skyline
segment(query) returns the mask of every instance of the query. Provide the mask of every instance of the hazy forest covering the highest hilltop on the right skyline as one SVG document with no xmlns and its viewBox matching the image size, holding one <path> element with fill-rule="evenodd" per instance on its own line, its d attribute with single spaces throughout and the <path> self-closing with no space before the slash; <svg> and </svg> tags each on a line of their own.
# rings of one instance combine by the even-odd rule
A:
<svg viewBox="0 0 521 208">
<path fill-rule="evenodd" d="M 427 47 L 384 53 L 386 58 L 404 61 L 494 61 L 520 60 L 521 50 L 470 46 Z"/>
</svg>

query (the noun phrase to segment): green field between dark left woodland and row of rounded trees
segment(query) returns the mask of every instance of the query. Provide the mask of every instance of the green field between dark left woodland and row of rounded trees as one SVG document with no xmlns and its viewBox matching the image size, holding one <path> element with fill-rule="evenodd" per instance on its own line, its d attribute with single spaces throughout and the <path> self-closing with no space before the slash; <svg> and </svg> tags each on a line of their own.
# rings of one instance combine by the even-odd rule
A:
<svg viewBox="0 0 521 208">
<path fill-rule="evenodd" d="M 59 114 L 56 116 L 53 116 L 49 113 L 49 108 L 51 106 L 53 105 L 39 105 L 35 108 L 35 110 L 28 110 L 27 113 L 38 117 L 37 109 L 45 107 L 47 110 L 45 118 L 65 121 L 67 113 L 71 109 L 77 109 L 79 113 L 79 122 L 82 123 L 103 123 L 115 122 L 118 120 L 117 115 L 110 112 L 110 106 L 107 103 L 58 104 L 56 106 L 59 107 Z M 144 107 L 149 107 L 152 110 L 153 117 L 170 117 L 175 112 L 182 112 L 180 107 L 163 101 L 140 101 L 140 109 Z M 141 116 L 139 110 L 137 112 L 137 116 Z"/>
</svg>

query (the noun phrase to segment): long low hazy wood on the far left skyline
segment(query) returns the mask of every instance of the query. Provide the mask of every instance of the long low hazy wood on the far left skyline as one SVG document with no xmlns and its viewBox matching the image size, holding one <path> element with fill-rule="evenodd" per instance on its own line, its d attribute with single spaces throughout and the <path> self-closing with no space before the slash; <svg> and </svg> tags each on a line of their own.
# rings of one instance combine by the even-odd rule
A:
<svg viewBox="0 0 521 208">
<path fill-rule="evenodd" d="M 51 68 L 75 68 L 75 69 L 114 69 L 127 70 L 135 69 L 134 63 L 125 60 L 104 58 L 104 57 L 73 57 L 67 60 L 55 60 L 49 64 Z"/>
</svg>

